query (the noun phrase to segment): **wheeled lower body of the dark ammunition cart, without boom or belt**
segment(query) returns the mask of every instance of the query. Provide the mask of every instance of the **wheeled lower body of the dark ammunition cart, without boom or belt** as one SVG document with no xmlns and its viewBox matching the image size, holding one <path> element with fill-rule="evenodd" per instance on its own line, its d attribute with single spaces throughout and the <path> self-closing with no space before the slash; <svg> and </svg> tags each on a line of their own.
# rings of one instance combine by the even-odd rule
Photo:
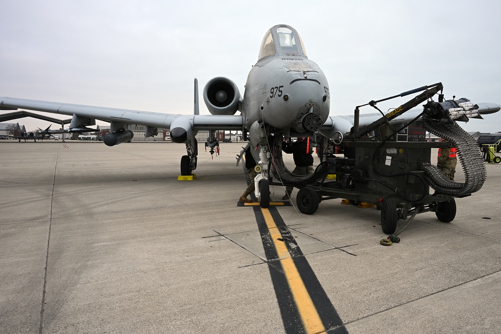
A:
<svg viewBox="0 0 501 334">
<path fill-rule="evenodd" d="M 450 144 L 388 142 L 378 149 L 379 144 L 353 142 L 355 158 L 330 157 L 329 172 L 336 174 L 336 180 L 301 188 L 297 195 L 299 210 L 313 214 L 321 201 L 334 198 L 378 203 L 381 227 L 387 234 L 394 233 L 397 221 L 414 211 L 434 211 L 440 221 L 452 221 L 456 214 L 454 197 L 470 194 L 430 194 L 426 173 L 421 170 L 422 165 L 430 164 L 431 148 Z"/>
</svg>

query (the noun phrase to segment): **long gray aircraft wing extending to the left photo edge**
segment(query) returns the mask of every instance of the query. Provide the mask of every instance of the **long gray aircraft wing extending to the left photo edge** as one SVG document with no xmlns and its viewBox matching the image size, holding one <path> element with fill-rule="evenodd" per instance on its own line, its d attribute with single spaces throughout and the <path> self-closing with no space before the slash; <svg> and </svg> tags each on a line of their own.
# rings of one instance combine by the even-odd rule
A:
<svg viewBox="0 0 501 334">
<path fill-rule="evenodd" d="M 242 117 L 238 115 L 166 114 L 10 97 L 0 98 L 0 108 L 2 110 L 28 109 L 53 114 L 73 115 L 74 119 L 80 118 L 80 120 L 97 119 L 121 124 L 140 124 L 152 128 L 172 129 L 179 126 L 183 129 L 189 128 L 185 130 L 190 132 L 198 130 L 241 130 L 243 125 Z M 75 127 L 76 125 L 75 123 Z M 78 125 L 80 127 L 82 122 L 79 122 Z"/>
</svg>

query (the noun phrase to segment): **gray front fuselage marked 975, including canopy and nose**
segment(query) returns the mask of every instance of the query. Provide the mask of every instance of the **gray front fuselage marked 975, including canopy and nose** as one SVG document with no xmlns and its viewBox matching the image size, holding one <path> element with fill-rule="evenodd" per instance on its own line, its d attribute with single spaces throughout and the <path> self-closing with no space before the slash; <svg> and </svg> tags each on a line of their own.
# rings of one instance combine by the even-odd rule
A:
<svg viewBox="0 0 501 334">
<path fill-rule="evenodd" d="M 302 40 L 289 26 L 275 26 L 263 40 L 260 60 L 247 77 L 241 107 L 248 130 L 256 121 L 289 134 L 313 132 L 329 116 L 329 85 L 320 67 L 309 60 Z M 315 124 L 303 124 L 313 114 Z"/>
</svg>

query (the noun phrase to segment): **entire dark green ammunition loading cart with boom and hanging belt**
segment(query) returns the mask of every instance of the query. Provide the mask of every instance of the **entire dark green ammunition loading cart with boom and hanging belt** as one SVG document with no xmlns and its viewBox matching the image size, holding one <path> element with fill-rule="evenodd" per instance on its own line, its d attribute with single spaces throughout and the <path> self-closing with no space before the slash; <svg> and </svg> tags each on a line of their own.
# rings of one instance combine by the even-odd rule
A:
<svg viewBox="0 0 501 334">
<path fill-rule="evenodd" d="M 478 191 L 486 176 L 478 145 L 449 117 L 449 110 L 452 108 L 468 110 L 475 106 L 467 99 L 443 101 L 442 94 L 439 95 L 438 103 L 431 100 L 442 89 L 442 84 L 438 83 L 397 95 L 405 96 L 425 90 L 387 115 L 380 111 L 383 117 L 361 129 L 358 126 L 358 110 L 362 106 L 357 107 L 355 126 L 341 143 L 341 146 L 354 149 L 354 157 L 340 158 L 329 154 L 332 147 L 329 148 L 329 140 L 324 139 L 319 149 L 326 153 L 322 155 L 323 162 L 319 167 L 327 164 L 328 172 L 323 171 L 324 177 L 321 180 L 317 178 L 317 183 L 296 185 L 300 188 L 296 200 L 299 210 L 313 214 L 321 201 L 333 198 L 377 203 L 381 208 L 381 227 L 387 234 L 395 232 L 399 219 L 406 219 L 416 213 L 433 211 L 440 221 L 452 221 L 456 214 L 455 198 L 470 196 Z M 421 118 L 420 122 L 427 131 L 447 142 L 390 141 L 414 120 L 395 131 L 388 130 L 391 128 L 388 121 L 426 100 L 428 102 L 424 105 L 423 112 L 414 120 Z M 378 109 L 376 104 L 380 101 L 371 101 L 368 105 Z M 373 133 L 376 129 L 379 129 L 380 141 L 376 141 L 374 136 L 365 138 L 366 134 Z M 430 163 L 432 148 L 451 146 L 457 148 L 464 171 L 464 183 L 449 180 Z M 327 174 L 335 174 L 335 181 L 326 179 Z M 430 187 L 434 189 L 433 194 L 430 194 Z"/>
</svg>

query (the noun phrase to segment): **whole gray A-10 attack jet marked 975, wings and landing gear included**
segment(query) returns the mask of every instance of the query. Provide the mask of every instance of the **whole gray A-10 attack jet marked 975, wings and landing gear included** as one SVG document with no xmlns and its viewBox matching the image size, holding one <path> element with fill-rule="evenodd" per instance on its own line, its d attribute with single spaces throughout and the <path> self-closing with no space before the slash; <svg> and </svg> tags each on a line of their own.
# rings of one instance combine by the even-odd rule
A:
<svg viewBox="0 0 501 334">
<path fill-rule="evenodd" d="M 439 86 L 437 86 L 439 85 Z M 434 89 L 441 84 L 423 86 L 400 96 Z M 259 52 L 259 60 L 247 77 L 243 97 L 233 81 L 223 77 L 211 79 L 203 89 L 203 100 L 211 115 L 199 115 L 198 88 L 195 79 L 193 115 L 154 113 L 139 110 L 94 107 L 58 102 L 45 102 L 2 97 L 0 109 L 17 108 L 73 115 L 70 128 L 95 125 L 95 120 L 110 122 L 110 133 L 103 141 L 108 146 L 129 141 L 133 137 L 128 130 L 130 124 L 146 126 L 145 136 L 157 134 L 157 128 L 170 129 L 171 141 L 186 144 L 187 155 L 181 157 L 181 174 L 190 175 L 197 165 L 197 131 L 209 130 L 206 146 L 213 153 L 217 141 L 215 130 L 240 130 L 244 139 L 249 139 L 252 153 L 258 163 L 256 196 L 260 205 L 269 205 L 269 173 L 278 173 L 288 179 L 287 168 L 281 164 L 283 138 L 316 137 L 319 142 L 333 139 L 338 145 L 343 138 L 357 135 L 357 132 L 372 132 L 371 125 L 381 117 L 378 113 L 348 116 L 329 116 L 330 90 L 320 67 L 308 59 L 298 32 L 290 26 L 272 27 L 265 35 Z M 421 94 L 422 95 L 422 94 Z M 372 101 L 374 106 L 375 101 Z M 447 102 L 447 101 L 446 101 Z M 479 103 L 475 108 L 457 107 L 454 117 L 467 121 L 469 117 L 481 118 L 480 114 L 497 112 L 501 107 L 495 103 Z M 417 105 L 417 104 L 415 104 Z M 415 106 L 414 105 L 414 106 Z M 410 108 L 395 109 L 383 114 L 388 124 L 410 122 L 422 111 L 402 112 Z M 358 107 L 357 107 L 358 109 Z M 406 110 L 403 110 L 406 109 Z M 235 115 L 240 111 L 240 115 Z M 326 145 L 323 146 L 324 149 Z M 275 174 L 276 175 L 276 174 Z M 293 178 L 293 180 L 295 180 Z"/>
</svg>

